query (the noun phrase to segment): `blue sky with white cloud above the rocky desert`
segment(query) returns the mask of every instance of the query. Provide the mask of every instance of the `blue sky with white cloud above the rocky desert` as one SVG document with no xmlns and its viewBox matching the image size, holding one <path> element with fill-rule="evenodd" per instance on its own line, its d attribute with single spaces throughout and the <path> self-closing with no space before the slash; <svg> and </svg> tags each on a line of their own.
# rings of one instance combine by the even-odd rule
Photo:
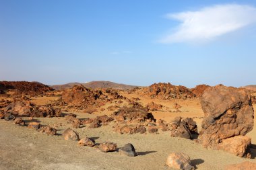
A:
<svg viewBox="0 0 256 170">
<path fill-rule="evenodd" d="M 255 11 L 256 1 L 0 0 L 0 80 L 256 84 Z"/>
</svg>

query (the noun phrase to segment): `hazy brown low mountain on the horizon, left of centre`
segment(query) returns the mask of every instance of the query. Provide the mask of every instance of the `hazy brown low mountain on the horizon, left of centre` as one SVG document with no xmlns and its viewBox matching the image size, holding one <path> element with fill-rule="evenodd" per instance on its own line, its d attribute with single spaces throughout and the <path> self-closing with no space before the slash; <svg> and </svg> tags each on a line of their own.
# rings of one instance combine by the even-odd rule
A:
<svg viewBox="0 0 256 170">
<path fill-rule="evenodd" d="M 114 83 L 111 81 L 91 81 L 88 83 L 67 83 L 64 85 L 52 85 L 51 87 L 53 89 L 69 89 L 73 87 L 74 85 L 84 85 L 84 87 L 92 88 L 92 89 L 98 89 L 98 88 L 112 88 L 112 89 L 133 89 L 137 86 L 134 85 L 125 85 L 125 84 L 119 84 Z"/>
</svg>

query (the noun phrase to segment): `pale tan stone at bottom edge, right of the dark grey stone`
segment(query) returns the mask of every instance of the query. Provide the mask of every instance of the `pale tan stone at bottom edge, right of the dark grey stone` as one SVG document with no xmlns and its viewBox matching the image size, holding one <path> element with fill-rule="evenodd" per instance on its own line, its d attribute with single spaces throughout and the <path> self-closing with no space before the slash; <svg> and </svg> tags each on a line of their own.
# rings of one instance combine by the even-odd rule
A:
<svg viewBox="0 0 256 170">
<path fill-rule="evenodd" d="M 175 169 L 194 170 L 195 167 L 191 165 L 189 155 L 185 153 L 171 153 L 166 161 L 166 165 Z"/>
</svg>

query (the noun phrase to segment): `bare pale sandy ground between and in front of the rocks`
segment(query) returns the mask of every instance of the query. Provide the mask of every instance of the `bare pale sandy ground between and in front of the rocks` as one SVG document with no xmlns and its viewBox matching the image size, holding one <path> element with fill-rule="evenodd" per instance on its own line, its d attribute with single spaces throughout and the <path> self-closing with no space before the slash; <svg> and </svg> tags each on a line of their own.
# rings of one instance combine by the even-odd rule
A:
<svg viewBox="0 0 256 170">
<path fill-rule="evenodd" d="M 124 93 L 127 97 L 136 97 Z M 143 105 L 152 99 L 139 97 Z M 36 99 L 35 99 L 36 100 Z M 44 100 L 38 98 L 39 103 Z M 54 100 L 54 99 L 53 99 Z M 158 119 L 171 120 L 175 116 L 197 117 L 197 124 L 201 125 L 203 112 L 198 99 L 162 101 L 169 109 L 153 112 Z M 182 105 L 181 112 L 169 112 L 174 102 Z M 256 105 L 255 105 L 256 106 Z M 105 106 L 106 107 L 106 106 Z M 77 118 L 92 118 L 103 114 L 110 114 L 107 110 L 95 114 L 75 113 Z M 28 118 L 24 118 L 28 122 Z M 102 153 L 97 148 L 78 146 L 77 141 L 64 140 L 61 133 L 71 124 L 64 118 L 36 118 L 41 124 L 63 124 L 57 128 L 57 136 L 41 134 L 27 128 L 18 126 L 13 122 L 0 120 L 0 169 L 171 169 L 165 165 L 166 158 L 172 152 L 187 153 L 197 169 L 224 169 L 225 165 L 252 161 L 256 163 L 256 150 L 251 149 L 253 159 L 244 159 L 225 153 L 203 148 L 200 144 L 184 138 L 172 138 L 170 132 L 158 134 L 118 134 L 111 125 L 90 129 L 86 126 L 75 129 L 79 137 L 92 137 L 96 143 L 110 141 L 116 142 L 119 147 L 132 143 L 138 153 L 137 157 L 127 157 L 118 152 Z M 200 128 L 200 127 L 199 127 Z M 256 128 L 249 132 L 252 143 L 256 144 Z"/>
</svg>

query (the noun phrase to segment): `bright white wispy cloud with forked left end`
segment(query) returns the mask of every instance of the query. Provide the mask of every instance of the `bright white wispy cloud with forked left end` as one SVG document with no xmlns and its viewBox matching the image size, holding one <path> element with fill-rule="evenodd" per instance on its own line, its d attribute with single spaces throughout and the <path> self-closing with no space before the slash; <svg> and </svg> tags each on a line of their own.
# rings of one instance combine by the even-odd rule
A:
<svg viewBox="0 0 256 170">
<path fill-rule="evenodd" d="M 160 42 L 204 42 L 255 23 L 256 8 L 237 4 L 214 5 L 199 11 L 168 13 L 166 17 L 182 23 Z"/>
</svg>

